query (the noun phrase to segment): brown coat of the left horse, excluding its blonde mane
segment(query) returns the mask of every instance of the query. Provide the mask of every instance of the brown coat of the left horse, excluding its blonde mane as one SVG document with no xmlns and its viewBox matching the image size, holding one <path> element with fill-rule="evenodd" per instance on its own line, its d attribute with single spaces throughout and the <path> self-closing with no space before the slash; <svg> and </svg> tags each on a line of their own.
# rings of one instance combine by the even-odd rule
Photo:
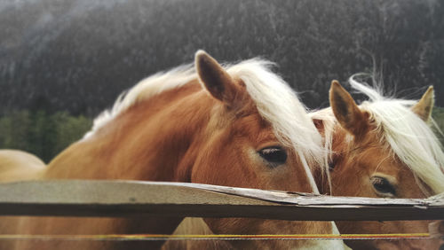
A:
<svg viewBox="0 0 444 250">
<path fill-rule="evenodd" d="M 243 82 L 205 53 L 198 80 L 131 105 L 50 162 L 42 179 L 130 179 L 313 191 L 297 152 L 281 145 Z M 210 94 L 209 94 L 210 93 Z M 297 119 L 295 117 L 294 119 Z M 278 145 L 285 164 L 268 168 L 258 150 Z M 112 195 L 112 194 L 110 194 Z M 182 218 L 8 218 L 0 233 L 171 233 Z M 216 233 L 330 233 L 331 223 L 207 219 Z M 0 249 L 146 249 L 162 242 L 8 242 Z M 313 241 L 237 241 L 240 248 L 321 246 Z M 15 247 L 15 248 L 14 248 Z"/>
</svg>

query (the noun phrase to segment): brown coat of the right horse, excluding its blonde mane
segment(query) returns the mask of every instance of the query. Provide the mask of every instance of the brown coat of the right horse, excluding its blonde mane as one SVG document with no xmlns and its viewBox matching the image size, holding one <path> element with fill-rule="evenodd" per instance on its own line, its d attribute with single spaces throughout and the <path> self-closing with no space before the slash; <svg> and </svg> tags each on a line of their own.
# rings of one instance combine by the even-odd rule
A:
<svg viewBox="0 0 444 250">
<path fill-rule="evenodd" d="M 338 98 L 339 96 L 339 98 Z M 343 98 L 347 97 L 347 98 Z M 427 118 L 431 112 L 431 89 L 414 111 Z M 378 194 L 370 182 L 372 176 L 385 177 L 395 186 L 394 198 L 425 198 L 416 184 L 416 177 L 381 140 L 375 125 L 362 116 L 360 107 L 338 82 L 332 82 L 330 105 L 338 124 L 334 128 L 330 171 L 331 189 L 326 178 L 318 175 L 318 184 L 324 193 L 337 196 L 385 197 Z M 337 110 L 346 110 L 341 115 Z M 319 122 L 319 121 L 318 121 Z M 321 126 L 320 126 L 321 127 Z M 321 131 L 322 132 L 322 131 Z M 393 222 L 337 222 L 341 233 L 416 233 L 427 232 L 430 221 Z M 440 240 L 349 240 L 356 249 L 438 249 Z"/>
</svg>

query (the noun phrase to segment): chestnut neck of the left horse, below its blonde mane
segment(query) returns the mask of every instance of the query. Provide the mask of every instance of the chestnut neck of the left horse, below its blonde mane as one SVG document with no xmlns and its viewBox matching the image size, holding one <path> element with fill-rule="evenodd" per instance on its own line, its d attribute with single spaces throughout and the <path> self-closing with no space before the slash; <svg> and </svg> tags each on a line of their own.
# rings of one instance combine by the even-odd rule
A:
<svg viewBox="0 0 444 250">
<path fill-rule="evenodd" d="M 212 105 L 198 82 L 166 90 L 67 148 L 44 177 L 189 182 L 192 149 Z"/>
</svg>

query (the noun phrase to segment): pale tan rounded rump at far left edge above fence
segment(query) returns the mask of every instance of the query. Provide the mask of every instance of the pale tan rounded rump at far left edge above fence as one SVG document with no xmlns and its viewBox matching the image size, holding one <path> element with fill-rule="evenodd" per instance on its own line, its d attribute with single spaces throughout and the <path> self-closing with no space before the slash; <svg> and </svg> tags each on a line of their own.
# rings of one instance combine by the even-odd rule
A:
<svg viewBox="0 0 444 250">
<path fill-rule="evenodd" d="M 29 152 L 0 150 L 0 183 L 9 180 L 28 180 L 38 176 L 46 167 L 44 161 Z"/>
</svg>

